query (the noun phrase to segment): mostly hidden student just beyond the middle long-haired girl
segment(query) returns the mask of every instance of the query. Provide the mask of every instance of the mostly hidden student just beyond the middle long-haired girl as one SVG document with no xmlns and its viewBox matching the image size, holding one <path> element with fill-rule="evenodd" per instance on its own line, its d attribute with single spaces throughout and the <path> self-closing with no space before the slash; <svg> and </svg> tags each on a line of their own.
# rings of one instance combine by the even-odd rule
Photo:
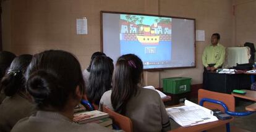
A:
<svg viewBox="0 0 256 132">
<path fill-rule="evenodd" d="M 92 54 L 90 65 L 88 66 L 87 69 L 83 71 L 83 80 L 85 80 L 85 87 L 89 86 L 89 76 L 90 76 L 90 71 L 92 67 L 92 62 L 93 62 L 93 59 L 97 56 L 106 56 L 106 54 L 104 54 L 103 52 L 94 52 Z"/>
</svg>

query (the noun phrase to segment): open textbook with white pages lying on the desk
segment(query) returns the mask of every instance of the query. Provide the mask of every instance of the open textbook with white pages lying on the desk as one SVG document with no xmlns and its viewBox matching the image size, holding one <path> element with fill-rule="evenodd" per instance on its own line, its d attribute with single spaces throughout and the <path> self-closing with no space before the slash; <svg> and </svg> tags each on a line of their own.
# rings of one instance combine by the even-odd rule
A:
<svg viewBox="0 0 256 132">
<path fill-rule="evenodd" d="M 187 100 L 183 106 L 167 108 L 166 111 L 170 118 L 184 127 L 218 120 L 213 111 Z"/>
</svg>

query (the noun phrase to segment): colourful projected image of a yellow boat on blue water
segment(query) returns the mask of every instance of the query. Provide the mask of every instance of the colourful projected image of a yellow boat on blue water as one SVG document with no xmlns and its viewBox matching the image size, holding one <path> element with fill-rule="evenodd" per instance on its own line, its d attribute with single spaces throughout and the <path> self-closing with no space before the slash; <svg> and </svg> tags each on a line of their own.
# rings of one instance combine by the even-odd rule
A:
<svg viewBox="0 0 256 132">
<path fill-rule="evenodd" d="M 136 54 L 144 68 L 167 64 L 171 61 L 171 27 L 171 18 L 121 14 L 121 54 Z"/>
</svg>

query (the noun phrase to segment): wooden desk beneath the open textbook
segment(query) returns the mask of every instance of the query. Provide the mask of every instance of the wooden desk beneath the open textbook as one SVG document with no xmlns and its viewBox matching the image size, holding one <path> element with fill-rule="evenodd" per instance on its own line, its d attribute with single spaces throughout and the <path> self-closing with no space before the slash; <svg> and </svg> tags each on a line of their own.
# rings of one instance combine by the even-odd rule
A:
<svg viewBox="0 0 256 132">
<path fill-rule="evenodd" d="M 173 105 L 171 107 L 179 107 L 182 106 L 184 104 L 179 104 L 179 105 Z M 167 108 L 171 108 L 171 107 L 167 107 Z M 234 117 L 232 117 L 229 120 L 218 120 L 215 122 L 208 122 L 208 123 L 203 123 L 200 125 L 195 125 L 195 126 L 187 126 L 187 127 L 183 127 L 183 126 L 179 126 L 179 128 L 176 128 L 174 130 L 171 130 L 169 132 L 183 132 L 183 131 L 205 131 L 205 130 L 210 130 L 211 128 L 216 128 L 218 126 L 221 125 L 226 125 L 226 123 L 232 122 L 234 120 Z"/>
</svg>

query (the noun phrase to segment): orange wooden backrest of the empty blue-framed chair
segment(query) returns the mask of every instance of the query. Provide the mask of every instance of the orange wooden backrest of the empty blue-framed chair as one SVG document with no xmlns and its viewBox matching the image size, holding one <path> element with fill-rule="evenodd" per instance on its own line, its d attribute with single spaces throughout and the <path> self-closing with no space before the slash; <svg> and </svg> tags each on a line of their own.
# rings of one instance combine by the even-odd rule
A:
<svg viewBox="0 0 256 132">
<path fill-rule="evenodd" d="M 230 112 L 235 111 L 235 99 L 231 94 L 217 93 L 213 91 L 208 91 L 205 89 L 198 90 L 198 104 L 202 98 L 215 99 L 217 101 L 221 101 L 228 106 L 228 110 Z M 211 102 L 204 102 L 203 107 L 208 109 L 219 109 L 224 112 L 224 108 L 219 104 L 213 104 Z"/>
</svg>

